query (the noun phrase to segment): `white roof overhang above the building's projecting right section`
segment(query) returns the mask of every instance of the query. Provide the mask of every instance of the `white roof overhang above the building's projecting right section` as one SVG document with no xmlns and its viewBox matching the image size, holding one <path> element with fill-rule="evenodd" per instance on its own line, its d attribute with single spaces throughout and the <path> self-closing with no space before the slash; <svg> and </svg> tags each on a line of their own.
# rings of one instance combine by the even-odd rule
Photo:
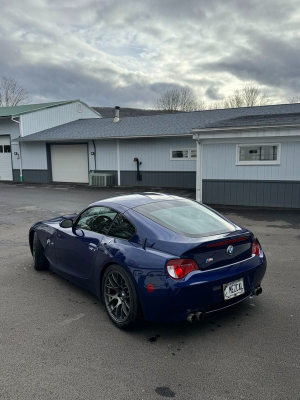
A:
<svg viewBox="0 0 300 400">
<path fill-rule="evenodd" d="M 244 126 L 224 128 L 195 128 L 193 139 L 215 140 L 234 138 L 267 138 L 300 136 L 300 125 Z"/>
</svg>

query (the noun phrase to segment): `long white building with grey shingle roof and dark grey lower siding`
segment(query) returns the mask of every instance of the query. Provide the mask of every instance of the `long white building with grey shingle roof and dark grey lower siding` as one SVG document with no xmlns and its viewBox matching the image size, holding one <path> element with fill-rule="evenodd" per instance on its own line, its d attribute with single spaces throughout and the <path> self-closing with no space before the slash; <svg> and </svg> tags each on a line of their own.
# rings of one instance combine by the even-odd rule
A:
<svg viewBox="0 0 300 400">
<path fill-rule="evenodd" d="M 15 135 L 14 179 L 22 164 L 25 182 L 88 183 L 99 173 L 114 185 L 197 186 L 210 204 L 300 208 L 300 104 L 126 118 L 121 110 L 120 119 L 86 112 Z"/>
</svg>

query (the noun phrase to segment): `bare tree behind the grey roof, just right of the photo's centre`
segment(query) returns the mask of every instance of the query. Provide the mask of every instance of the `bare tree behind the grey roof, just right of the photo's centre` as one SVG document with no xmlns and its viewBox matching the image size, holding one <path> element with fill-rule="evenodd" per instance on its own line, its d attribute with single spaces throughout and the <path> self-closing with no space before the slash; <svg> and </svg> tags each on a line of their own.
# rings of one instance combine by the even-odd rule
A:
<svg viewBox="0 0 300 400">
<path fill-rule="evenodd" d="M 196 111 L 203 110 L 205 103 L 198 102 L 195 93 L 189 87 L 170 89 L 163 93 L 155 103 L 157 110 Z"/>
</svg>

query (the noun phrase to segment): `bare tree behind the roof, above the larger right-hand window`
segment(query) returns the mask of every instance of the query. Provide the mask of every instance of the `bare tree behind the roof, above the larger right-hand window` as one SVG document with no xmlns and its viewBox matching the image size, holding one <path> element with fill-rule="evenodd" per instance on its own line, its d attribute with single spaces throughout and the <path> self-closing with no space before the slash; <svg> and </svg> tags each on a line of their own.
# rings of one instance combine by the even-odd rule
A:
<svg viewBox="0 0 300 400">
<path fill-rule="evenodd" d="M 267 93 L 256 86 L 245 86 L 224 99 L 220 104 L 220 108 L 254 107 L 267 104 L 269 104 Z"/>
</svg>

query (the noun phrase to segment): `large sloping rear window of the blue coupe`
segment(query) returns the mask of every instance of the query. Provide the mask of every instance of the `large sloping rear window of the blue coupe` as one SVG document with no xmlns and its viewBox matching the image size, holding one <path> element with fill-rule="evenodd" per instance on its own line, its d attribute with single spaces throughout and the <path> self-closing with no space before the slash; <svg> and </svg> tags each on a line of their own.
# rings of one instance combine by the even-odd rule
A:
<svg viewBox="0 0 300 400">
<path fill-rule="evenodd" d="M 210 236 L 233 232 L 236 227 L 209 210 L 190 200 L 171 200 L 135 207 L 135 211 L 180 235 Z"/>
</svg>

